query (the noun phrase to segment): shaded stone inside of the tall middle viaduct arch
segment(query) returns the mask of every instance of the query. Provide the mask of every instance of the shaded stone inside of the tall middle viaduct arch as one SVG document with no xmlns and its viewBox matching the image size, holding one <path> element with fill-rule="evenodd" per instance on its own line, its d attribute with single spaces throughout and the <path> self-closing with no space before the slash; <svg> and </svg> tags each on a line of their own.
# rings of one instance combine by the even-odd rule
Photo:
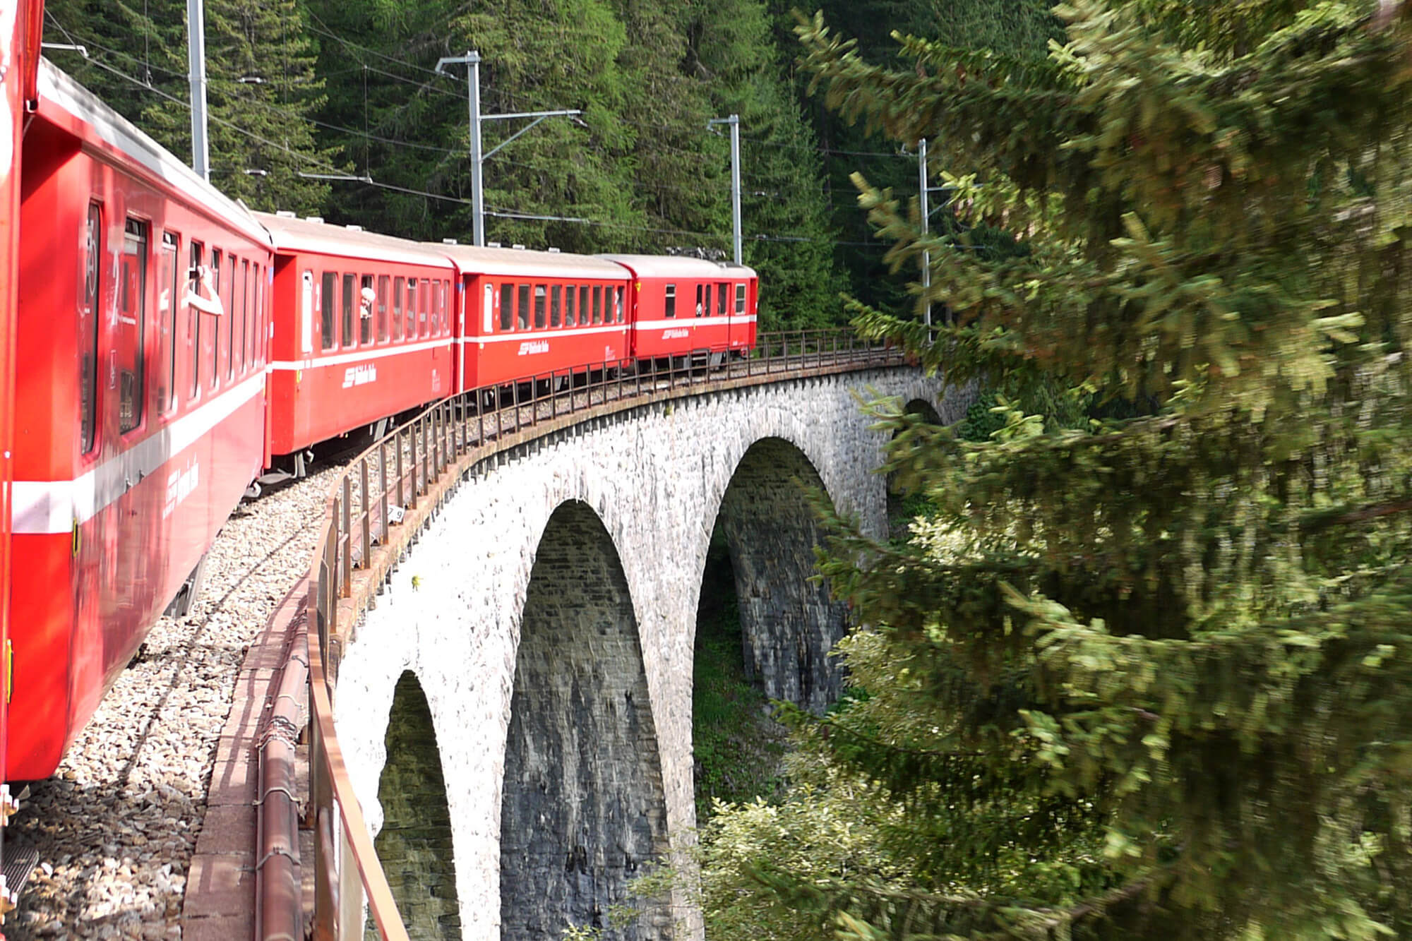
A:
<svg viewBox="0 0 1412 941">
<path fill-rule="evenodd" d="M 661 858 L 666 804 L 637 617 L 617 550 L 585 503 L 545 527 L 530 574 L 500 801 L 504 941 L 671 937 L 650 904 L 609 924 L 627 883 Z"/>
</svg>

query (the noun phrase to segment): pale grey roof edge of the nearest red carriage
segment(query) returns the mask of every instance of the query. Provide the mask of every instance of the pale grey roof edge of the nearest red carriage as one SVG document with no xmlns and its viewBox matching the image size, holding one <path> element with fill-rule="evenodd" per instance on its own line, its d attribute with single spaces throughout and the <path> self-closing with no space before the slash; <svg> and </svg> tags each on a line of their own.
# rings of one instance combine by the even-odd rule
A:
<svg viewBox="0 0 1412 941">
<path fill-rule="evenodd" d="M 270 236 L 243 205 L 202 179 L 169 150 L 140 131 L 131 122 L 104 105 L 48 59 L 40 61 L 40 114 L 58 107 L 93 129 L 99 140 L 141 164 L 169 189 L 205 205 L 212 213 L 241 229 L 254 242 L 270 244 Z"/>
</svg>

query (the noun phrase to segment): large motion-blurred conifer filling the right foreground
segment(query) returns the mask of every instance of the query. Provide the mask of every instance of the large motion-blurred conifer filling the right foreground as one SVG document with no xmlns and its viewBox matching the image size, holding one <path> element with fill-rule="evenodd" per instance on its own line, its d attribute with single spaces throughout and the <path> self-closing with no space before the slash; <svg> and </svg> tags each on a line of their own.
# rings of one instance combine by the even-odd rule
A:
<svg viewBox="0 0 1412 941">
<path fill-rule="evenodd" d="M 867 695 L 792 716 L 770 819 L 713 818 L 720 911 L 779 938 L 1412 934 L 1412 4 L 1207 11 L 1073 0 L 1045 61 L 901 37 L 904 68 L 801 27 L 830 107 L 936 141 L 962 220 L 1018 239 L 921 239 L 860 179 L 956 318 L 860 329 L 1110 417 L 1005 408 L 973 442 L 874 407 L 936 513 L 902 547 L 836 520 Z"/>
</svg>

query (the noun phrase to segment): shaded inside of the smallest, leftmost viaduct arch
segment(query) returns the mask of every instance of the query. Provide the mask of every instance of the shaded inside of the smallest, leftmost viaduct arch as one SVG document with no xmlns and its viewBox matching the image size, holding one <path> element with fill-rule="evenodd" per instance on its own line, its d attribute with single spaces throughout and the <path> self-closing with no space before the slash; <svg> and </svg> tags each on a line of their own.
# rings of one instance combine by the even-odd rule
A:
<svg viewBox="0 0 1412 941">
<path fill-rule="evenodd" d="M 432 712 L 409 670 L 393 692 L 377 800 L 383 829 L 373 845 L 408 934 L 414 941 L 460 941 L 446 780 Z"/>
</svg>

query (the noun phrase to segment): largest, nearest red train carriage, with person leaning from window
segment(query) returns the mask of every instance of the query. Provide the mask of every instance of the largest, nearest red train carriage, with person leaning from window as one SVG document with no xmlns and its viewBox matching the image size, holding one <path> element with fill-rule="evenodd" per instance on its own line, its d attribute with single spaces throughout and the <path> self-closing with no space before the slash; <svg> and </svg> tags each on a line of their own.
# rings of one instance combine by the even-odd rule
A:
<svg viewBox="0 0 1412 941">
<path fill-rule="evenodd" d="M 24 134 L 7 780 L 54 771 L 260 472 L 268 236 L 71 78 Z"/>
</svg>

